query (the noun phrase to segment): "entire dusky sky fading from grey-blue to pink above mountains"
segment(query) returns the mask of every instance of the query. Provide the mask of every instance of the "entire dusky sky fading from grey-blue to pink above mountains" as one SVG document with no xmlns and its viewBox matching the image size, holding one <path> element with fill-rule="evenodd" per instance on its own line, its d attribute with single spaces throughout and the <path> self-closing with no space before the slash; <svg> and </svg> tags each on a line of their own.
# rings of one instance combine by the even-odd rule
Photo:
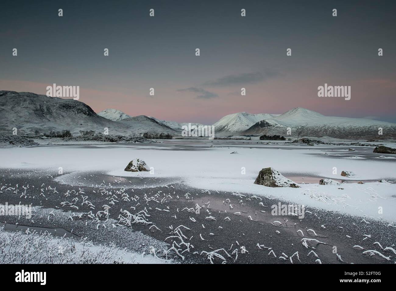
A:
<svg viewBox="0 0 396 291">
<path fill-rule="evenodd" d="M 297 106 L 396 121 L 396 4 L 345 2 L 3 1 L 0 89 L 80 85 L 95 111 L 200 123 Z M 319 98 L 324 83 L 350 85 L 351 100 Z"/>
</svg>

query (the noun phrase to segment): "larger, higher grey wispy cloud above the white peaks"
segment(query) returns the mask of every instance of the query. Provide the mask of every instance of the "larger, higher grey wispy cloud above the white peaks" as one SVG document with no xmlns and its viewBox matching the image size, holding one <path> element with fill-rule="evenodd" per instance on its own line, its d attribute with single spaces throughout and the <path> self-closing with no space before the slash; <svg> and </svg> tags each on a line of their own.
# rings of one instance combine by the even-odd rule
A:
<svg viewBox="0 0 396 291">
<path fill-rule="evenodd" d="M 266 69 L 264 72 L 228 75 L 218 78 L 214 81 L 207 81 L 204 83 L 204 85 L 213 87 L 225 87 L 231 85 L 255 84 L 278 76 L 281 76 L 278 71 Z"/>
</svg>

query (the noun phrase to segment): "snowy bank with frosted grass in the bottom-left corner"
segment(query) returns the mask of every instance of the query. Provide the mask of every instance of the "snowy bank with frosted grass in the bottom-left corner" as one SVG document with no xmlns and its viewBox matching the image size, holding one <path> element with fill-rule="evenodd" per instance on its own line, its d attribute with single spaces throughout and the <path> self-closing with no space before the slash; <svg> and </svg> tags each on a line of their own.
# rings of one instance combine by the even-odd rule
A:
<svg viewBox="0 0 396 291">
<path fill-rule="evenodd" d="M 55 237 L 48 232 L 8 232 L 0 228 L 2 264 L 130 264 L 166 263 L 151 255 L 139 255 L 126 249 L 94 245 L 86 240 Z"/>
</svg>

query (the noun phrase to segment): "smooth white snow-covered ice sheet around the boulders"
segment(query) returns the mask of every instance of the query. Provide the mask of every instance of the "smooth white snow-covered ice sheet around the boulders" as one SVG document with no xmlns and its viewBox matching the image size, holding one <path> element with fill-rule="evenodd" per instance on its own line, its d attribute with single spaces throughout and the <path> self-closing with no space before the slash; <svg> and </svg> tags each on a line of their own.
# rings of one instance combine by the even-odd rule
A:
<svg viewBox="0 0 396 291">
<path fill-rule="evenodd" d="M 395 181 L 394 161 L 377 159 L 378 155 L 372 153 L 373 147 L 364 147 L 359 151 L 359 154 L 372 154 L 373 159 L 343 159 L 336 155 L 322 155 L 324 152 L 332 153 L 331 149 L 340 150 L 337 146 L 308 148 L 280 144 L 274 148 L 262 144 L 255 147 L 241 144 L 211 147 L 212 144 L 216 145 L 211 142 L 194 144 L 191 141 L 192 149 L 177 144 L 166 147 L 163 144 L 133 144 L 4 148 L 0 149 L 0 160 L 6 168 L 49 168 L 57 172 L 59 167 L 63 167 L 65 173 L 102 170 L 109 176 L 118 177 L 175 177 L 199 189 L 277 197 L 317 208 L 396 221 L 395 184 L 318 185 L 321 178 Z M 232 150 L 236 150 L 235 147 L 239 154 L 230 155 Z M 135 157 L 154 167 L 154 174 L 125 172 L 125 165 Z M 318 183 L 299 184 L 301 188 L 298 189 L 253 184 L 259 171 L 266 167 L 273 167 L 286 177 L 288 173 L 293 176 L 315 176 Z M 334 167 L 337 174 L 333 174 Z M 354 172 L 358 178 L 342 177 L 343 170 Z M 244 171 L 246 174 L 242 174 Z M 382 207 L 383 214 L 379 214 L 379 207 Z"/>
</svg>

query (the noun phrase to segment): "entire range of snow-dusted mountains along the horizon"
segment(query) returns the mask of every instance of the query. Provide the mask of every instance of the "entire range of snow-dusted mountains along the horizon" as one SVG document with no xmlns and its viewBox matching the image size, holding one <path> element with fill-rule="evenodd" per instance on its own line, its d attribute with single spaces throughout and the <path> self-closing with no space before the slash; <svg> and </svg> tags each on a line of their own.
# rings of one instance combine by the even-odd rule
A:
<svg viewBox="0 0 396 291">
<path fill-rule="evenodd" d="M 164 121 L 154 117 L 129 115 L 119 110 L 102 111 L 102 117 L 88 105 L 73 99 L 48 97 L 29 92 L 0 91 L 0 131 L 11 133 L 17 128 L 18 133 L 40 134 L 50 131 L 70 130 L 73 135 L 80 130 L 103 132 L 109 128 L 110 134 L 181 134 L 181 127 L 188 123 Z M 128 118 L 125 118 L 128 117 Z M 118 120 L 118 121 L 113 121 Z M 192 123 L 192 125 L 200 125 Z M 296 129 L 305 126 L 305 136 L 331 136 L 333 138 L 396 138 L 396 123 L 364 118 L 325 116 L 305 108 L 293 108 L 281 115 L 250 114 L 246 112 L 229 114 L 215 126 L 215 135 L 291 135 Z M 383 135 L 378 132 L 382 128 Z"/>
</svg>

